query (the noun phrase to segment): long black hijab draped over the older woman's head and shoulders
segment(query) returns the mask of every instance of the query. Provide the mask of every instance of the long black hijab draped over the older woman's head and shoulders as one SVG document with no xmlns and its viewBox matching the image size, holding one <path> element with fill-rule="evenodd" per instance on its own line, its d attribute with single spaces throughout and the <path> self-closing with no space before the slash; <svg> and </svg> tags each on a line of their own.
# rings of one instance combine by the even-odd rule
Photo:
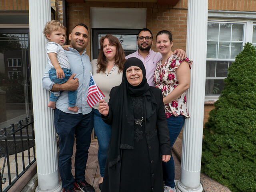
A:
<svg viewBox="0 0 256 192">
<path fill-rule="evenodd" d="M 142 70 L 142 82 L 138 86 L 129 84 L 126 70 L 131 66 L 137 66 Z M 108 166 L 114 168 L 121 159 L 121 149 L 134 149 L 134 114 L 130 102 L 130 96 L 142 96 L 144 100 L 144 116 L 149 118 L 156 109 L 156 100 L 152 95 L 146 79 L 146 69 L 138 58 L 128 58 L 124 63 L 122 83 L 112 95 L 112 113 L 115 121 L 112 124 L 112 133 L 108 151 Z M 147 107 L 145 107 L 147 106 Z"/>
</svg>

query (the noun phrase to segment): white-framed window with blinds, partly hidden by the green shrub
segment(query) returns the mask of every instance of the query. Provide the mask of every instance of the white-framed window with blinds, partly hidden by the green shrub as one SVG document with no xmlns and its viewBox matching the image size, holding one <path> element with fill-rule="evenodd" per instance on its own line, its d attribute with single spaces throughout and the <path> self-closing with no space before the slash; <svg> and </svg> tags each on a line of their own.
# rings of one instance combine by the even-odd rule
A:
<svg viewBox="0 0 256 192">
<path fill-rule="evenodd" d="M 245 22 L 208 22 L 205 94 L 219 95 L 228 67 L 244 45 Z"/>
</svg>

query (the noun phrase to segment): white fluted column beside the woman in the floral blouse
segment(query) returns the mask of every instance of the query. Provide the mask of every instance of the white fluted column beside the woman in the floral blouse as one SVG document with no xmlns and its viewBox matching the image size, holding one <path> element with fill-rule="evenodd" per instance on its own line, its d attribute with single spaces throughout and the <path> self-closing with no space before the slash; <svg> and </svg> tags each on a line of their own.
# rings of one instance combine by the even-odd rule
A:
<svg viewBox="0 0 256 192">
<path fill-rule="evenodd" d="M 193 60 L 187 92 L 190 118 L 182 139 L 181 176 L 178 191 L 202 192 L 200 168 L 204 119 L 208 0 L 188 0 L 187 55 Z"/>
</svg>

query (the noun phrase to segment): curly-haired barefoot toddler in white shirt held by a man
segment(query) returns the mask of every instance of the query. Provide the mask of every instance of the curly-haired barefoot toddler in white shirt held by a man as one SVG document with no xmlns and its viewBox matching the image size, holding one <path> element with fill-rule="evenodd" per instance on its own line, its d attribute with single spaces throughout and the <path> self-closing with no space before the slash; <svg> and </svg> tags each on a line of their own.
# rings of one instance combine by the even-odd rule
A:
<svg viewBox="0 0 256 192">
<path fill-rule="evenodd" d="M 62 48 L 66 42 L 66 27 L 58 20 L 47 22 L 44 27 L 44 36 L 49 41 L 46 44 L 48 64 L 51 66 L 49 77 L 54 83 L 65 83 L 72 75 L 70 63 Z M 78 112 L 79 109 L 76 106 L 76 94 L 77 90 L 68 91 L 68 110 L 73 112 Z M 51 93 L 48 107 L 55 109 L 57 99 L 58 96 Z"/>
</svg>

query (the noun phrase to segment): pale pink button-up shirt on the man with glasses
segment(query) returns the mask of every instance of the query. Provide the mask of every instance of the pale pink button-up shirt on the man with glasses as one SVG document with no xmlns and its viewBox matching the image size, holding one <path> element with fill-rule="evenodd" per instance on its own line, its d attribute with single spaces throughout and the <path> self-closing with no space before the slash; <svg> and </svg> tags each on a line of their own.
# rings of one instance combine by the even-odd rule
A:
<svg viewBox="0 0 256 192">
<path fill-rule="evenodd" d="M 136 57 L 143 62 L 144 66 L 146 68 L 146 78 L 148 80 L 148 84 L 150 86 L 155 86 L 154 81 L 153 81 L 153 75 L 154 75 L 154 72 L 156 69 L 156 64 L 162 58 L 162 55 L 159 52 L 154 52 L 153 50 L 150 49 L 146 58 L 142 57 L 139 54 L 138 50 L 136 52 L 126 56 L 125 58 L 128 59 L 130 57 Z"/>
</svg>

